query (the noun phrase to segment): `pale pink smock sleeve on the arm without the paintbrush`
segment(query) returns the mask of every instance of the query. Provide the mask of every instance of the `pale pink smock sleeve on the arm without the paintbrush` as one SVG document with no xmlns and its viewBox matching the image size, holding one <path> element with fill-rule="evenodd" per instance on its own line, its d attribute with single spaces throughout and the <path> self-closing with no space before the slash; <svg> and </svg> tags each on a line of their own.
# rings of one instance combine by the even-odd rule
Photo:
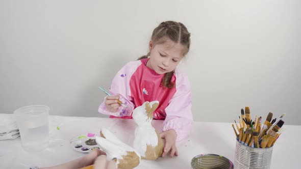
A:
<svg viewBox="0 0 301 169">
<path fill-rule="evenodd" d="M 191 112 L 190 83 L 185 74 L 175 71 L 175 85 L 177 91 L 170 99 L 165 109 L 166 118 L 162 131 L 174 129 L 177 132 L 176 141 L 179 142 L 187 137 L 191 131 L 193 117 Z"/>
</svg>

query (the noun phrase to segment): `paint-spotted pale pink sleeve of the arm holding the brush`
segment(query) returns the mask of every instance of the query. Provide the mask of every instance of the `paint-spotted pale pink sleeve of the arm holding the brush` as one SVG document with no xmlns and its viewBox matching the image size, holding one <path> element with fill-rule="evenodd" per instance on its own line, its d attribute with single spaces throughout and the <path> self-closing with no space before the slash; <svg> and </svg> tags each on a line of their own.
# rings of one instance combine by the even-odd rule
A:
<svg viewBox="0 0 301 169">
<path fill-rule="evenodd" d="M 98 107 L 98 112 L 105 115 L 112 115 L 112 116 L 119 116 L 119 117 L 131 116 L 132 111 L 134 110 L 134 104 L 132 103 L 133 99 L 131 97 L 130 79 L 139 65 L 141 65 L 140 61 L 133 61 L 123 66 L 114 77 L 109 90 L 109 93 L 111 93 L 112 95 L 119 94 L 120 96 L 119 100 L 122 103 L 126 104 L 128 108 L 119 106 L 116 112 L 110 112 L 105 105 L 105 100 L 106 100 L 105 97 L 104 101 Z"/>
</svg>

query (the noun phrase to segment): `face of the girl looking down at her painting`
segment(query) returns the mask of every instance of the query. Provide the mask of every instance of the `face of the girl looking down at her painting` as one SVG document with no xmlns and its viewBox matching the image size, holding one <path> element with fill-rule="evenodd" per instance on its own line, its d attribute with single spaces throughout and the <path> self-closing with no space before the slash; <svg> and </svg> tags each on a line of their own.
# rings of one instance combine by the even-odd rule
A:
<svg viewBox="0 0 301 169">
<path fill-rule="evenodd" d="M 183 45 L 166 40 L 162 44 L 154 45 L 149 42 L 150 56 L 146 66 L 158 74 L 173 71 L 183 58 Z"/>
</svg>

